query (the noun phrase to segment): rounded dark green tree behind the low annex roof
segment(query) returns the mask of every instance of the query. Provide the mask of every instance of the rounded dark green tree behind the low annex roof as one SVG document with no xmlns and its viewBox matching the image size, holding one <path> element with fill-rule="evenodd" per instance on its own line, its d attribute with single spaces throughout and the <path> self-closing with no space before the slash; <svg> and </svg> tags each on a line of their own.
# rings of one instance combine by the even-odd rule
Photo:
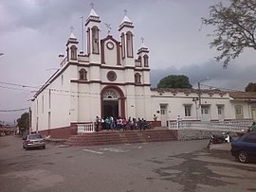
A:
<svg viewBox="0 0 256 192">
<path fill-rule="evenodd" d="M 171 75 L 160 79 L 157 88 L 192 88 L 192 84 L 187 76 Z"/>
</svg>

